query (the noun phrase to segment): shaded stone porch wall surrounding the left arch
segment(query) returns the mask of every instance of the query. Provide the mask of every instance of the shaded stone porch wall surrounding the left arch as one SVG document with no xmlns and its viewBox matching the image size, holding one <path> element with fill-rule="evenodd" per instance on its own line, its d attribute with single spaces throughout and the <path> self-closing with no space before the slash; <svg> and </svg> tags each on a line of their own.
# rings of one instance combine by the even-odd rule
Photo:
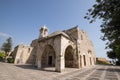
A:
<svg viewBox="0 0 120 80">
<path fill-rule="evenodd" d="M 40 39 L 38 41 L 38 49 L 37 49 L 37 66 L 38 68 L 42 68 L 42 58 L 43 58 L 43 54 L 46 54 L 48 51 L 48 53 L 50 52 L 50 50 L 48 48 L 46 48 L 47 46 L 51 46 L 53 48 L 53 50 L 55 51 L 55 58 L 54 58 L 54 62 L 55 63 L 55 68 L 57 71 L 60 71 L 60 45 L 61 45 L 61 39 L 60 36 L 55 36 L 53 38 L 47 38 L 47 39 Z M 47 56 L 47 55 L 46 55 Z M 47 60 L 47 57 L 45 57 Z M 47 60 L 48 61 L 48 60 Z"/>
</svg>

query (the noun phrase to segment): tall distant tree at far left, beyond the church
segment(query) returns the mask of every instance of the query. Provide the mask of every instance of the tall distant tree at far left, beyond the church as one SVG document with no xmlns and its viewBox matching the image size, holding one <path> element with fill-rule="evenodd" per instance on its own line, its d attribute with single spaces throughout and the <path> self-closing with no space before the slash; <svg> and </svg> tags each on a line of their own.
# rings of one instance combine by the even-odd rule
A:
<svg viewBox="0 0 120 80">
<path fill-rule="evenodd" d="M 12 38 L 9 37 L 6 42 L 3 43 L 2 48 L 6 55 L 12 50 Z"/>
</svg>

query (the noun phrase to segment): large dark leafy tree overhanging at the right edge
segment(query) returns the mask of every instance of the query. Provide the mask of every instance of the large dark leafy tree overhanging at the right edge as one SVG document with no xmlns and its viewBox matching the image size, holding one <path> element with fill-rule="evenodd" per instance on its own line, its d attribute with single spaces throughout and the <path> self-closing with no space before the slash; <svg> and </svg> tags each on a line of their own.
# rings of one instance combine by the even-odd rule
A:
<svg viewBox="0 0 120 80">
<path fill-rule="evenodd" d="M 106 48 L 109 58 L 117 58 L 120 62 L 120 0 L 96 0 L 84 17 L 90 23 L 102 19 L 101 39 L 107 40 Z"/>
</svg>

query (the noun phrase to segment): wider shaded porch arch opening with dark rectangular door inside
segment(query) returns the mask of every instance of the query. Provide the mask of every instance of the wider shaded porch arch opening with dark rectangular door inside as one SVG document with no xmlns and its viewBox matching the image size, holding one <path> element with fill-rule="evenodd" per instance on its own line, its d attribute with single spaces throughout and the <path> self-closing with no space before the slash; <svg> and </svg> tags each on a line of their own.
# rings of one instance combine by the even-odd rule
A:
<svg viewBox="0 0 120 80">
<path fill-rule="evenodd" d="M 41 65 L 42 68 L 55 67 L 55 51 L 51 45 L 45 46 L 41 57 Z"/>
</svg>

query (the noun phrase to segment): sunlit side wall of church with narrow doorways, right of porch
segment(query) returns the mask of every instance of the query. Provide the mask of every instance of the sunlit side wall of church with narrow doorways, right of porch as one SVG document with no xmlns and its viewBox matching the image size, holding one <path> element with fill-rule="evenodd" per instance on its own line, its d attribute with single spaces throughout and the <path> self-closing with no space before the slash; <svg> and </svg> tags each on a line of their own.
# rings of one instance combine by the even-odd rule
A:
<svg viewBox="0 0 120 80">
<path fill-rule="evenodd" d="M 82 60 L 81 67 L 89 67 L 95 64 L 95 51 L 92 42 L 90 41 L 88 34 L 85 31 L 79 31 L 79 55 Z M 85 60 L 85 61 L 84 61 Z"/>
</svg>

